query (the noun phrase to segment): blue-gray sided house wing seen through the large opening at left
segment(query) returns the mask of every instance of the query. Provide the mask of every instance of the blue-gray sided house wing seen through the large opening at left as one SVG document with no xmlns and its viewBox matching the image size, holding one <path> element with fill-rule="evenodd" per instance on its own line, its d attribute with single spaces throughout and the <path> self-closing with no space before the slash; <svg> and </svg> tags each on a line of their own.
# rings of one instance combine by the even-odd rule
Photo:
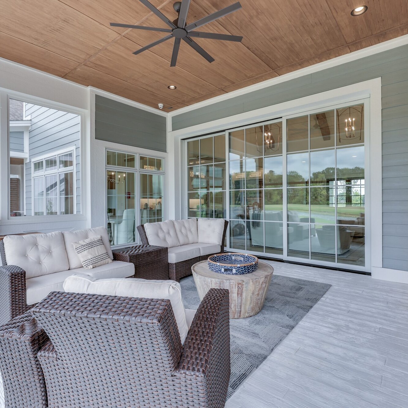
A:
<svg viewBox="0 0 408 408">
<path fill-rule="evenodd" d="M 80 116 L 9 101 L 10 215 L 80 212 Z"/>
</svg>

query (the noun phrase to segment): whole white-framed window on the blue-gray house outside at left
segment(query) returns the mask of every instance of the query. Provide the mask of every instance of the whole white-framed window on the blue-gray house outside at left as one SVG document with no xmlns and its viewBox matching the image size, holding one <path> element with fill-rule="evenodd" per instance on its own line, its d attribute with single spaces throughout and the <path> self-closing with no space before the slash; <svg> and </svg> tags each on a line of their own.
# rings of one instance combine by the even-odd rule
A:
<svg viewBox="0 0 408 408">
<path fill-rule="evenodd" d="M 75 214 L 73 149 L 33 160 L 34 215 Z"/>
</svg>

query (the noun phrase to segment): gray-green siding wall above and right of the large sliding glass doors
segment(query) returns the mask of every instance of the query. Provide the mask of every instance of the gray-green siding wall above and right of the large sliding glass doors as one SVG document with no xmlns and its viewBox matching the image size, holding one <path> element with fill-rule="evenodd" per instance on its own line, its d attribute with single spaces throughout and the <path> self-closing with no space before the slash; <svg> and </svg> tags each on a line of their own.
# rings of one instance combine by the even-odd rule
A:
<svg viewBox="0 0 408 408">
<path fill-rule="evenodd" d="M 175 115 L 172 129 L 381 77 L 383 266 L 408 271 L 408 46 Z"/>
</svg>

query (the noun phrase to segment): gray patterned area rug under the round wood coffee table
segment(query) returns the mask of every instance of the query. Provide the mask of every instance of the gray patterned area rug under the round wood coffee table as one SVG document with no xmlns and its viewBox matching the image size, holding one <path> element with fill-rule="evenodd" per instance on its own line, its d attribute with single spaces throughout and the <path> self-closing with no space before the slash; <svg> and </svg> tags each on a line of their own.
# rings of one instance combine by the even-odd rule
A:
<svg viewBox="0 0 408 408">
<path fill-rule="evenodd" d="M 200 297 L 193 276 L 180 280 L 184 307 L 197 309 Z M 302 320 L 331 285 L 273 275 L 262 310 L 230 319 L 231 377 L 228 398 Z"/>
</svg>

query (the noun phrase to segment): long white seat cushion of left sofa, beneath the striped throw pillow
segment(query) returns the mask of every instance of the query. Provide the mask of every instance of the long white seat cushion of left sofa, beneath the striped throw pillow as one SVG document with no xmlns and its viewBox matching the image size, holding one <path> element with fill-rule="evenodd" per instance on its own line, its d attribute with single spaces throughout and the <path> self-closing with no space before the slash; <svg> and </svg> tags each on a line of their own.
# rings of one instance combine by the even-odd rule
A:
<svg viewBox="0 0 408 408">
<path fill-rule="evenodd" d="M 83 273 L 94 278 L 124 278 L 135 274 L 135 265 L 128 262 L 113 261 L 111 264 L 98 266 L 93 269 L 68 269 L 26 279 L 27 304 L 40 302 L 53 290 L 64 290 L 64 280 L 73 273 Z"/>
</svg>

